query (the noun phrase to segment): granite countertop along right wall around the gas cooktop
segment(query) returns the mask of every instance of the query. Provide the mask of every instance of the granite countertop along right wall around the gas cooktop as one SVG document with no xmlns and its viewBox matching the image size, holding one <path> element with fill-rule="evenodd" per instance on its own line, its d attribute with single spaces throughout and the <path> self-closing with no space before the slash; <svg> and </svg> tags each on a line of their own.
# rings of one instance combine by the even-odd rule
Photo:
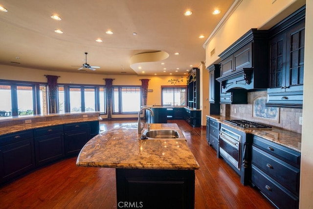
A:
<svg viewBox="0 0 313 209">
<path fill-rule="evenodd" d="M 292 131 L 280 129 L 280 128 L 272 128 L 269 130 L 243 130 L 236 126 L 230 125 L 229 123 L 225 123 L 226 119 L 240 119 L 235 117 L 226 117 L 220 115 L 209 115 L 208 117 L 214 118 L 218 120 L 218 122 L 223 123 L 225 125 L 231 126 L 237 130 L 243 131 L 245 133 L 253 134 L 258 137 L 262 137 L 274 143 L 280 144 L 282 146 L 288 147 L 294 151 L 301 152 L 301 134 L 295 133 Z"/>
</svg>

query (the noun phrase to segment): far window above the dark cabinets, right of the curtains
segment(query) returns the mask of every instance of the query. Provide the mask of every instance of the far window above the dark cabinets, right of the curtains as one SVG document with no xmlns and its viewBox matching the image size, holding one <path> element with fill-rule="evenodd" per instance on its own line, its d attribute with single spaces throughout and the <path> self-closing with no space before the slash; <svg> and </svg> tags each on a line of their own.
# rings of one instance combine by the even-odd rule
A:
<svg viewBox="0 0 313 209">
<path fill-rule="evenodd" d="M 185 106 L 186 86 L 183 87 L 161 87 L 162 106 Z"/>
</svg>

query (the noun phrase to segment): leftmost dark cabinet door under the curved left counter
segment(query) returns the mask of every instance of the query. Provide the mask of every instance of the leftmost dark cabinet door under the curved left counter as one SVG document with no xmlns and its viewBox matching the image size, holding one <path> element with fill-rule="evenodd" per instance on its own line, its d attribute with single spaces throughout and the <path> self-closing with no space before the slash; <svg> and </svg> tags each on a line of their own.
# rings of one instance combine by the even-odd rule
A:
<svg viewBox="0 0 313 209">
<path fill-rule="evenodd" d="M 0 183 L 18 177 L 34 168 L 33 138 L 0 146 L 0 160 Z"/>
</svg>

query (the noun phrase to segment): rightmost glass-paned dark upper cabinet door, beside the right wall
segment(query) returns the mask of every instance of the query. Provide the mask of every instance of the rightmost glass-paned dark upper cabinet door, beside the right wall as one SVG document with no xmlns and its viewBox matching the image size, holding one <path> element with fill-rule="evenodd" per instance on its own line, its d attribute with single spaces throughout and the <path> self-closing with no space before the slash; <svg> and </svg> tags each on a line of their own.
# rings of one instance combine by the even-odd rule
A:
<svg viewBox="0 0 313 209">
<path fill-rule="evenodd" d="M 287 31 L 286 92 L 303 90 L 304 26 L 303 22 Z"/>
</svg>

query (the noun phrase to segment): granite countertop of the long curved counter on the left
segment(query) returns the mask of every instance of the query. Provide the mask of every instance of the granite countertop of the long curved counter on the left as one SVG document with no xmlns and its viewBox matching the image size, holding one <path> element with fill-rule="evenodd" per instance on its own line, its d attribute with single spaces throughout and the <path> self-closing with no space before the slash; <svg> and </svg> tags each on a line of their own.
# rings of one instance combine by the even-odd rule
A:
<svg viewBox="0 0 313 209">
<path fill-rule="evenodd" d="M 89 117 L 84 117 L 83 115 L 89 115 Z M 56 118 L 54 119 L 54 117 Z M 8 118 L 5 121 L 1 121 L 0 136 L 16 133 L 20 131 L 36 129 L 36 128 L 44 128 L 44 127 L 55 126 L 55 125 L 99 120 L 98 113 L 82 113 L 82 114 L 66 114 L 66 115 L 55 114 L 54 117 L 28 116 L 25 119 L 32 120 L 31 123 L 25 123 L 22 120 L 22 121 L 19 121 L 18 124 L 14 124 L 14 122 L 16 122 L 17 119 L 21 120 L 23 118 L 12 118 L 11 120 Z M 51 118 L 52 120 L 50 120 Z M 35 121 L 35 119 L 39 119 L 39 121 Z"/>
</svg>

